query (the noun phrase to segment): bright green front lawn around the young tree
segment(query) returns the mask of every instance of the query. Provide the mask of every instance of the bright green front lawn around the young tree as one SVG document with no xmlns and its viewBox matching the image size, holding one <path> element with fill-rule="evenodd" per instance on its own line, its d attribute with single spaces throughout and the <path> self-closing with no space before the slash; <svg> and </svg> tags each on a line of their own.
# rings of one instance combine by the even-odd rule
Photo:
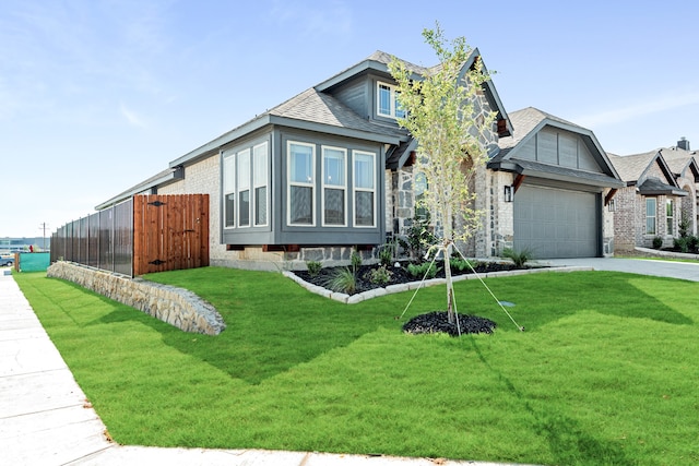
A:
<svg viewBox="0 0 699 466">
<path fill-rule="evenodd" d="M 182 333 L 44 274 L 15 275 L 123 444 L 565 465 L 699 462 L 699 284 L 607 272 L 455 284 L 494 335 L 405 335 L 442 287 L 346 306 L 280 274 L 200 268 L 147 278 L 222 312 Z"/>
</svg>

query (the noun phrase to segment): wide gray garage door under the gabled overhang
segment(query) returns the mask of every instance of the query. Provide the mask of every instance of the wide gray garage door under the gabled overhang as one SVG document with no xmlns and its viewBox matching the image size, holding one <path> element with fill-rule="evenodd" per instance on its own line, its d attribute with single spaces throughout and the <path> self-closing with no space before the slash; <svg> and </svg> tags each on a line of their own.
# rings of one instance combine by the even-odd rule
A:
<svg viewBox="0 0 699 466">
<path fill-rule="evenodd" d="M 538 259 L 599 255 L 597 195 L 523 184 L 514 194 L 514 249 Z"/>
</svg>

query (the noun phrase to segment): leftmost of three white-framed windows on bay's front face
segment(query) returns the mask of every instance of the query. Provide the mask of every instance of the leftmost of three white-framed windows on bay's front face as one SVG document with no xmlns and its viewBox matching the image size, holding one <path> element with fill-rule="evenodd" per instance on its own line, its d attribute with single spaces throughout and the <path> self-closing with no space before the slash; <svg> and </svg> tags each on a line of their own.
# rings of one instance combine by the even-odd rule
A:
<svg viewBox="0 0 699 466">
<path fill-rule="evenodd" d="M 298 142 L 287 143 L 289 225 L 315 225 L 313 168 L 316 146 Z"/>
</svg>

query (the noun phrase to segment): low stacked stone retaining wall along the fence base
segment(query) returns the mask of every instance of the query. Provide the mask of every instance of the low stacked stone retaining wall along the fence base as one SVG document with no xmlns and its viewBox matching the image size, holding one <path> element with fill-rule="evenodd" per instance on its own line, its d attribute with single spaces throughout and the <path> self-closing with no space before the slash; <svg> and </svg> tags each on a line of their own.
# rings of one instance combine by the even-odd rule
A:
<svg viewBox="0 0 699 466">
<path fill-rule="evenodd" d="M 185 332 L 218 335 L 226 328 L 216 309 L 187 289 L 69 262 L 54 263 L 48 267 L 46 276 L 73 282 Z"/>
</svg>

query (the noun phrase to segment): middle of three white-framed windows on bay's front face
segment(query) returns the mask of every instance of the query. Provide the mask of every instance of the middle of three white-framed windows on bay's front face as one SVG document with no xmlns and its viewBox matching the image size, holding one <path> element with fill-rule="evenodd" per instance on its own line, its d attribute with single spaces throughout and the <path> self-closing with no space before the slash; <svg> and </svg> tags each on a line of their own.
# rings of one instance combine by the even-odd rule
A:
<svg viewBox="0 0 699 466">
<path fill-rule="evenodd" d="M 323 146 L 323 225 L 344 226 L 347 151 Z"/>
</svg>

